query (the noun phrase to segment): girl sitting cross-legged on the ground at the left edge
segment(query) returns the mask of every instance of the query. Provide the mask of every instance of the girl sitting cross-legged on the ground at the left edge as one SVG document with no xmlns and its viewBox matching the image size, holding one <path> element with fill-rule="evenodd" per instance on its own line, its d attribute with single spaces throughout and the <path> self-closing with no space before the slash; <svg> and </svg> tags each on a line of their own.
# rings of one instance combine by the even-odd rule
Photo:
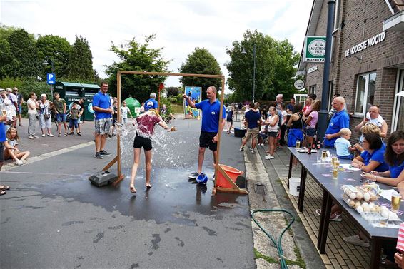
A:
<svg viewBox="0 0 404 269">
<path fill-rule="evenodd" d="M 4 141 L 4 160 L 13 159 L 17 166 L 26 163 L 25 159 L 28 158 L 29 151 L 19 151 L 17 147 L 19 144 L 19 135 L 17 129 L 14 127 L 9 128 L 6 132 L 7 140 Z"/>
</svg>

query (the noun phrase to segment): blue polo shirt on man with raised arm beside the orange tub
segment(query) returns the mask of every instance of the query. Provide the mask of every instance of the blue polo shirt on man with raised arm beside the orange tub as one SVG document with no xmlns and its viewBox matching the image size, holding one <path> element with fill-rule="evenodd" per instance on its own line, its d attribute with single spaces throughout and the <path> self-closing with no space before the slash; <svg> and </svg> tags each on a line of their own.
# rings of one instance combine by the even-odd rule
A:
<svg viewBox="0 0 404 269">
<path fill-rule="evenodd" d="M 195 104 L 196 108 L 202 111 L 202 127 L 201 130 L 209 133 L 217 133 L 219 131 L 219 113 L 221 102 L 218 100 L 211 103 L 208 99 Z M 223 106 L 222 118 L 226 118 L 226 109 Z"/>
</svg>

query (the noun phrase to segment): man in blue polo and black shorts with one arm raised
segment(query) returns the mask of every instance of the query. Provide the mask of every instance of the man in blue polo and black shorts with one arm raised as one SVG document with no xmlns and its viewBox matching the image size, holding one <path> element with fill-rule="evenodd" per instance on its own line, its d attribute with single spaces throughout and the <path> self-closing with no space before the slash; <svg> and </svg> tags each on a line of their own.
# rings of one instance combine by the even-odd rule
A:
<svg viewBox="0 0 404 269">
<path fill-rule="evenodd" d="M 216 99 L 216 88 L 210 86 L 206 90 L 206 100 L 199 103 L 193 103 L 191 98 L 183 94 L 191 108 L 198 108 L 202 111 L 202 127 L 201 135 L 199 136 L 199 151 L 198 151 L 198 171 L 191 173 L 189 178 L 196 178 L 202 173 L 203 158 L 205 158 L 205 149 L 209 148 L 213 152 L 213 162 L 216 163 L 218 156 L 218 134 L 223 130 L 226 124 L 226 109 L 223 106 L 223 113 L 221 121 L 219 121 L 219 114 L 221 102 Z"/>
</svg>

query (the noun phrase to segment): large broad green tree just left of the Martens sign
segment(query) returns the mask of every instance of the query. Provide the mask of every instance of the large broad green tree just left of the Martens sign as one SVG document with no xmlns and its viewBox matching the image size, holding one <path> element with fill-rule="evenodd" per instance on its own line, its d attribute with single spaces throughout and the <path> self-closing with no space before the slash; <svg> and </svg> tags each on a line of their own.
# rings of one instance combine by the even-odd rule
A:
<svg viewBox="0 0 404 269">
<path fill-rule="evenodd" d="M 298 54 L 287 41 L 278 42 L 258 31 L 246 31 L 242 41 L 233 41 L 227 49 L 231 61 L 228 68 L 228 88 L 233 91 L 233 101 L 251 100 L 253 97 L 253 46 L 256 46 L 256 100 L 274 100 L 276 94 L 284 98 L 293 91 L 292 78 Z M 242 52 L 246 51 L 245 54 Z"/>
</svg>

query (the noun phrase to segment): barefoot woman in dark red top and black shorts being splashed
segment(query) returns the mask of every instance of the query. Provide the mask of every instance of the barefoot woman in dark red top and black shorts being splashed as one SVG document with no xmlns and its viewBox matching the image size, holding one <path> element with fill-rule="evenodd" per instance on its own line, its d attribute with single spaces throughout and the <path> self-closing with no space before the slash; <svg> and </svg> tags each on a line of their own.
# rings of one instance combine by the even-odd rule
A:
<svg viewBox="0 0 404 269">
<path fill-rule="evenodd" d="M 131 173 L 131 184 L 129 185 L 131 193 L 136 193 L 134 183 L 141 158 L 142 147 L 144 149 L 144 156 L 146 159 L 146 187 L 151 188 L 151 149 L 153 148 L 151 146 L 151 138 L 153 137 L 154 126 L 159 125 L 168 130 L 167 124 L 154 109 L 150 109 L 146 113 L 141 114 L 141 116 L 138 116 L 136 118 L 136 122 L 138 123 L 138 128 L 136 131 L 135 140 L 133 141 L 134 161 Z M 174 127 L 170 128 L 168 131 L 173 131 L 173 128 Z"/>
</svg>

